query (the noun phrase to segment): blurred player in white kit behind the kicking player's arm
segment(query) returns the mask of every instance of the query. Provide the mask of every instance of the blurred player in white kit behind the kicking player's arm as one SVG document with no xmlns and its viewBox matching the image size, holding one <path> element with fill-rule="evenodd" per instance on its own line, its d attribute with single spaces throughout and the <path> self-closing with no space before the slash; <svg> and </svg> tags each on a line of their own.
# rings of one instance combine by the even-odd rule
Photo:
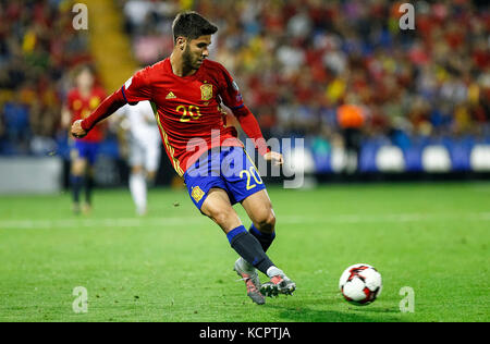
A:
<svg viewBox="0 0 490 344">
<path fill-rule="evenodd" d="M 151 103 L 126 105 L 117 112 L 127 133 L 130 191 L 140 216 L 147 212 L 147 188 L 155 181 L 160 164 L 161 139 Z"/>
</svg>

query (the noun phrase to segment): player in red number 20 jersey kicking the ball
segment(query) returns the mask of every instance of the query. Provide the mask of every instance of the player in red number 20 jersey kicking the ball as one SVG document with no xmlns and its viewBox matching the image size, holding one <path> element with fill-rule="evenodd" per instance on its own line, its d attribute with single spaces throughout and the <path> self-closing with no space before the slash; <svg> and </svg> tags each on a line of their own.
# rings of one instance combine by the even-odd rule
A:
<svg viewBox="0 0 490 344">
<path fill-rule="evenodd" d="M 220 63 L 207 60 L 211 35 L 218 28 L 196 12 L 183 12 L 175 17 L 172 30 L 171 56 L 133 75 L 91 115 L 75 122 L 72 134 L 85 136 L 125 103 L 155 102 L 167 155 L 184 177 L 193 202 L 223 230 L 241 256 L 234 269 L 245 281 L 247 295 L 264 304 L 265 296 L 292 294 L 295 283 L 266 254 L 275 237 L 271 201 L 236 131 L 225 127 L 221 103 L 232 110 L 264 159 L 282 164 L 283 157 L 268 149 L 230 73 Z M 253 222 L 249 231 L 232 207 L 236 202 Z M 260 284 L 257 270 L 270 281 Z"/>
</svg>

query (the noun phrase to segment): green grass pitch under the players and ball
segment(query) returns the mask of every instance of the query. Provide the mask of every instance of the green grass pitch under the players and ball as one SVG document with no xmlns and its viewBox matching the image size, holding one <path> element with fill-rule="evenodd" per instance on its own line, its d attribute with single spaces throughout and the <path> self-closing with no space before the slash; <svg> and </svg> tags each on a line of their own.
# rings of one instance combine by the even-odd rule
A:
<svg viewBox="0 0 490 344">
<path fill-rule="evenodd" d="M 152 191 L 145 218 L 125 189 L 96 191 L 89 216 L 71 213 L 69 194 L 1 196 L 0 321 L 490 320 L 490 184 L 269 194 L 278 218 L 269 255 L 297 291 L 265 306 L 246 297 L 236 254 L 184 191 Z M 380 298 L 365 307 L 338 290 L 357 262 L 383 277 Z M 76 286 L 88 291 L 86 314 L 72 309 Z M 415 312 L 399 309 L 403 286 L 414 288 Z"/>
</svg>

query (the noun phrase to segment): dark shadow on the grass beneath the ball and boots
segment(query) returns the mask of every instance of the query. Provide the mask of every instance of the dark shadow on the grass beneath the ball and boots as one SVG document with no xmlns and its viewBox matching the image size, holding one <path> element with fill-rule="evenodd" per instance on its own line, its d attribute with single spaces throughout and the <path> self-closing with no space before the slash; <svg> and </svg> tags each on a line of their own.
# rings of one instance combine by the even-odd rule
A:
<svg viewBox="0 0 490 344">
<path fill-rule="evenodd" d="M 313 303 L 318 305 L 318 303 Z M 328 306 L 328 305 L 327 305 Z M 394 309 L 380 309 L 368 307 L 356 307 L 339 310 L 318 310 L 307 306 L 304 302 L 297 304 L 273 305 L 262 307 L 280 309 L 279 317 L 284 321 L 298 322 L 396 322 L 402 321 L 399 311 Z M 355 308 L 354 308 L 355 307 Z"/>
</svg>

